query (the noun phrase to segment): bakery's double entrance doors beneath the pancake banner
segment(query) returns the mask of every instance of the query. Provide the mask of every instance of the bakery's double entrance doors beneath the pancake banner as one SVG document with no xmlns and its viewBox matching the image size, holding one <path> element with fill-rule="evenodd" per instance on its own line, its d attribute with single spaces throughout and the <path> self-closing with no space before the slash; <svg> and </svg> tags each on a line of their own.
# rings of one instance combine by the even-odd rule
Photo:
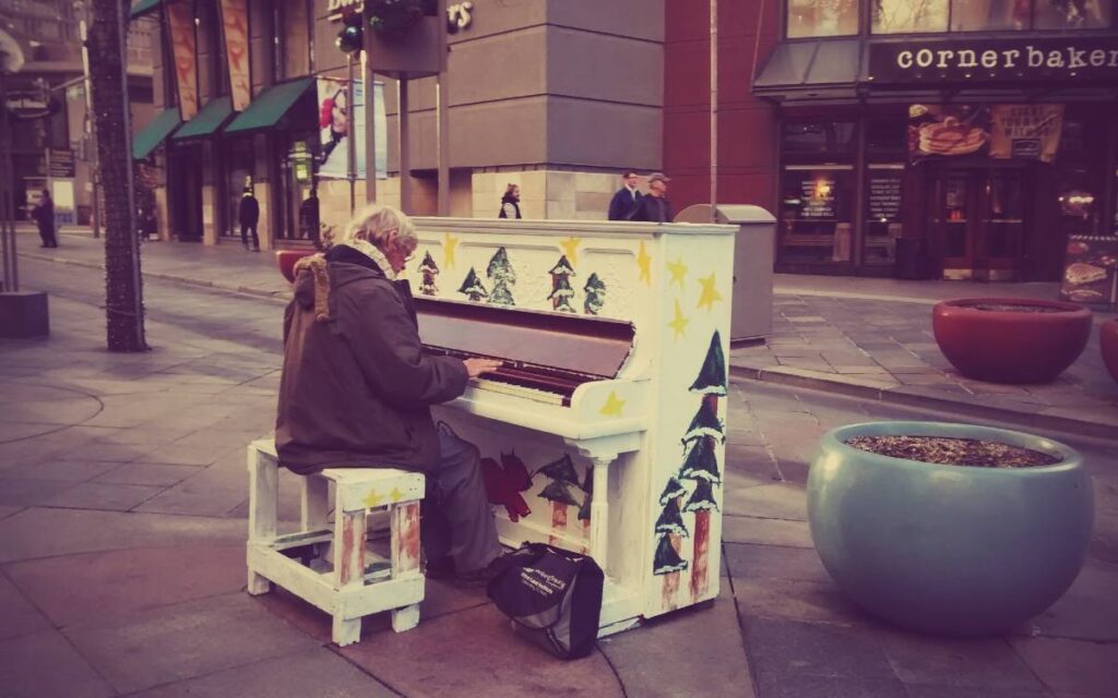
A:
<svg viewBox="0 0 1118 698">
<path fill-rule="evenodd" d="M 1021 278 L 1029 190 L 1021 166 L 945 164 L 935 173 L 929 232 L 945 279 Z"/>
</svg>

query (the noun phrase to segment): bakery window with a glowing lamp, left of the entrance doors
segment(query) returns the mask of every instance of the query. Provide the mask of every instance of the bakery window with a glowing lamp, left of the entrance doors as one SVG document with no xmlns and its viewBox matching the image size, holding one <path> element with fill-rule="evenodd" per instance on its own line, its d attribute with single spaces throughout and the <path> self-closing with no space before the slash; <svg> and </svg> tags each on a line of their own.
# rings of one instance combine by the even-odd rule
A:
<svg viewBox="0 0 1118 698">
<path fill-rule="evenodd" d="M 789 164 L 780 176 L 780 261 L 852 261 L 854 168 Z"/>
</svg>

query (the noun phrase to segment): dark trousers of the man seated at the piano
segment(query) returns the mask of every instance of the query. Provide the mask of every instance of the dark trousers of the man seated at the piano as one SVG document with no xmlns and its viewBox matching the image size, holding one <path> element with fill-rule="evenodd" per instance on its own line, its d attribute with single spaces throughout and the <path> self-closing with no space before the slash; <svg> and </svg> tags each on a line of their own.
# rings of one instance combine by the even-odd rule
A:
<svg viewBox="0 0 1118 698">
<path fill-rule="evenodd" d="M 474 572 L 501 554 L 496 522 L 485 496 L 481 453 L 467 441 L 438 433 L 439 459 L 426 472 L 427 496 L 423 500 L 419 528 L 427 560 L 449 555 L 455 568 Z"/>
</svg>

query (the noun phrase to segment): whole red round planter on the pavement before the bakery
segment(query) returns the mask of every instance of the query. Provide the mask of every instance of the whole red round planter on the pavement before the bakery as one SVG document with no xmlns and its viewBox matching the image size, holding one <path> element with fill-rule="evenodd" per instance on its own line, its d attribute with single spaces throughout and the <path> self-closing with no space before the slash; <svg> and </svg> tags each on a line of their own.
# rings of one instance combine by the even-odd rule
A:
<svg viewBox="0 0 1118 698">
<path fill-rule="evenodd" d="M 1083 352 L 1091 312 L 1057 300 L 963 298 L 936 304 L 931 326 L 939 350 L 963 375 L 991 383 L 1044 383 Z"/>
</svg>

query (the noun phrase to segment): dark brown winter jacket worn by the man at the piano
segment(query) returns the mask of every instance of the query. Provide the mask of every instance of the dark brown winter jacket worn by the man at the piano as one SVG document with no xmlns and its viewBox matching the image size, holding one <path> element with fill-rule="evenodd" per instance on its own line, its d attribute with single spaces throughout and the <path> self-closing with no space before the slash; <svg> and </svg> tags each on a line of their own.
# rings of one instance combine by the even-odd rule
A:
<svg viewBox="0 0 1118 698">
<path fill-rule="evenodd" d="M 466 386 L 466 367 L 423 351 L 407 281 L 344 246 L 300 260 L 284 314 L 276 417 L 281 465 L 428 470 L 438 437 L 428 405 Z"/>
</svg>

